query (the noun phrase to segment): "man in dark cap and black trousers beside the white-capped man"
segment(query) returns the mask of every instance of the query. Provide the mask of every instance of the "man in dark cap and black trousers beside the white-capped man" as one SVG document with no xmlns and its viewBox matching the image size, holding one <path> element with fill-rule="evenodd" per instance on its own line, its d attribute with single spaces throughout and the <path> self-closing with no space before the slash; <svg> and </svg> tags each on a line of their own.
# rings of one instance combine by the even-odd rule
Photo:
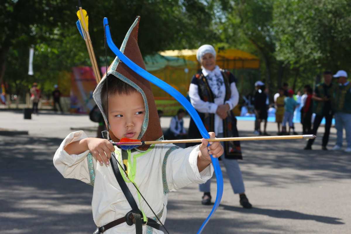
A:
<svg viewBox="0 0 351 234">
<path fill-rule="evenodd" d="M 329 140 L 329 133 L 331 122 L 333 119 L 333 110 L 331 105 L 331 96 L 333 94 L 333 90 L 335 89 L 336 84 L 332 83 L 332 73 L 331 71 L 323 72 L 324 83 L 320 83 L 316 85 L 313 93 L 313 113 L 316 113 L 316 117 L 313 122 L 313 130 L 312 134 L 317 135 L 317 130 L 322 122 L 323 117 L 325 117 L 325 125 L 324 125 L 324 135 L 322 140 L 322 149 L 327 150 L 326 146 Z M 311 150 L 314 139 L 309 139 L 305 150 Z"/>
</svg>

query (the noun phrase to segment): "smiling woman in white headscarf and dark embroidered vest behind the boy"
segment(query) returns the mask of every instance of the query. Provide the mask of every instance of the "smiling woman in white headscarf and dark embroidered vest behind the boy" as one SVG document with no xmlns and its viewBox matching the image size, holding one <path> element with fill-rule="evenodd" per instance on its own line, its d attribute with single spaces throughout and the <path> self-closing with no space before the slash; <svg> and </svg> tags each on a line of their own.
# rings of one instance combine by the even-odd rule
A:
<svg viewBox="0 0 351 234">
<path fill-rule="evenodd" d="M 191 104 L 199 113 L 207 131 L 216 132 L 216 137 L 238 137 L 237 120 L 231 111 L 239 102 L 236 78 L 229 71 L 221 70 L 216 65 L 216 51 L 211 45 L 203 45 L 197 51 L 197 60 L 201 70 L 195 74 L 189 87 Z M 189 138 L 201 138 L 195 123 L 191 120 Z M 187 147 L 192 144 L 187 144 Z M 240 142 L 223 142 L 224 157 L 221 157 L 231 186 L 235 194 L 240 196 L 240 204 L 244 208 L 251 208 L 245 195 L 243 177 L 237 162 L 243 159 Z M 200 184 L 200 191 L 204 192 L 201 203 L 211 204 L 211 180 Z"/>
</svg>

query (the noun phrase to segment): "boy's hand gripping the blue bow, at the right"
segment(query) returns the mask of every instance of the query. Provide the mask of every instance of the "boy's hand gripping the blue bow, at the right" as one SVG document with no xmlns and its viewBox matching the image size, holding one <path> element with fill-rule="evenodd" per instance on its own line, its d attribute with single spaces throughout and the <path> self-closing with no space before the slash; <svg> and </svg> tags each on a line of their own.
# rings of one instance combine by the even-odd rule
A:
<svg viewBox="0 0 351 234">
<path fill-rule="evenodd" d="M 214 132 L 208 132 L 210 134 L 210 138 L 216 138 L 216 134 Z M 207 165 L 211 163 L 211 157 L 210 154 L 214 158 L 219 158 L 224 150 L 220 142 L 210 142 L 210 146 L 207 147 L 208 141 L 206 139 L 202 138 L 201 139 L 201 144 L 200 144 L 200 152 L 199 152 L 199 160 L 203 161 L 204 163 L 207 162 Z"/>
</svg>

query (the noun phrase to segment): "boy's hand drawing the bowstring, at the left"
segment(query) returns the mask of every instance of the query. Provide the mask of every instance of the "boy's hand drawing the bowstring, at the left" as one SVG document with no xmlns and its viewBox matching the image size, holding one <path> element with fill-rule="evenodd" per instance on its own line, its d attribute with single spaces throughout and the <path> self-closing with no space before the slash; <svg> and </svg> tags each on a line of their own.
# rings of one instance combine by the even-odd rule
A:
<svg viewBox="0 0 351 234">
<path fill-rule="evenodd" d="M 101 138 L 85 138 L 88 149 L 93 157 L 101 164 L 105 162 L 106 165 L 110 164 L 111 152 L 114 152 L 114 147 L 111 142 Z"/>
</svg>

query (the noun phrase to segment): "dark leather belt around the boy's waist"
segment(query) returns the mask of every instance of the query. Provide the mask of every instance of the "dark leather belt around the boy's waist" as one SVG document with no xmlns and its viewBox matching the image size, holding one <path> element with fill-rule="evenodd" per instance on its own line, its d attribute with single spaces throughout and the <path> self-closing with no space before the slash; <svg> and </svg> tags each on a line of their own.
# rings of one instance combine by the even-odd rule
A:
<svg viewBox="0 0 351 234">
<path fill-rule="evenodd" d="M 135 224 L 135 229 L 137 230 L 137 234 L 138 233 L 142 233 L 143 228 L 141 226 L 150 226 L 152 228 L 155 228 L 157 230 L 160 230 L 160 225 L 153 219 L 150 218 L 146 218 L 146 222 L 141 222 L 141 218 L 143 217 L 142 214 L 140 213 L 134 213 L 134 210 L 131 210 L 130 212 L 128 212 L 126 214 L 126 216 L 121 217 L 119 219 L 116 219 L 110 223 L 105 224 L 104 226 L 101 227 L 97 227 L 95 232 L 93 234 L 102 234 L 104 233 L 106 230 L 117 226 L 121 223 L 126 222 L 129 226 L 132 226 L 133 224 Z"/>
</svg>

